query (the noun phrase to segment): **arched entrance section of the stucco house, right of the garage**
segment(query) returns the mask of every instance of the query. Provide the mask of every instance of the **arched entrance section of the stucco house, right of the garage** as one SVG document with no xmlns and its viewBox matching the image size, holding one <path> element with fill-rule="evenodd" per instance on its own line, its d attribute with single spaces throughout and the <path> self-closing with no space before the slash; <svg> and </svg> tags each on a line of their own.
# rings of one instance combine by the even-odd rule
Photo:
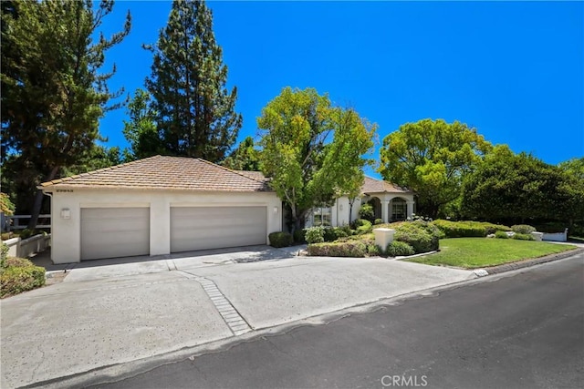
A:
<svg viewBox="0 0 584 389">
<path fill-rule="evenodd" d="M 415 200 L 411 190 L 400 188 L 381 179 L 365 177 L 360 197 L 353 200 L 344 196 L 335 200 L 330 207 L 313 209 L 307 217 L 306 226 L 343 226 L 359 219 L 362 204 L 370 202 L 375 212 L 375 219 L 383 222 L 405 220 L 414 212 Z M 350 212 L 350 218 L 349 218 Z"/>
</svg>

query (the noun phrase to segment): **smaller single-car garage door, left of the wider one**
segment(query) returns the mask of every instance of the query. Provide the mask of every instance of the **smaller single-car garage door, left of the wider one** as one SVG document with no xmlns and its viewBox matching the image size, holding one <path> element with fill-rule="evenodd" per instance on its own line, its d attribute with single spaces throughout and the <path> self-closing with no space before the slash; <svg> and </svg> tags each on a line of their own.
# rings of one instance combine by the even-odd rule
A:
<svg viewBox="0 0 584 389">
<path fill-rule="evenodd" d="M 150 253 L 150 209 L 81 209 L 81 260 Z"/>
</svg>

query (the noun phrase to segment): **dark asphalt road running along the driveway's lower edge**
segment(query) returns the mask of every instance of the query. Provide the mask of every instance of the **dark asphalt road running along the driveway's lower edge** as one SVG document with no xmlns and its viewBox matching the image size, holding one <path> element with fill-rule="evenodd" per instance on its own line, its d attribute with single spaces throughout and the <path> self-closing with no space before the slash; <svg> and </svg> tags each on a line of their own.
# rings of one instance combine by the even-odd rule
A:
<svg viewBox="0 0 584 389">
<path fill-rule="evenodd" d="M 485 280 L 98 387 L 584 387 L 584 256 Z"/>
</svg>

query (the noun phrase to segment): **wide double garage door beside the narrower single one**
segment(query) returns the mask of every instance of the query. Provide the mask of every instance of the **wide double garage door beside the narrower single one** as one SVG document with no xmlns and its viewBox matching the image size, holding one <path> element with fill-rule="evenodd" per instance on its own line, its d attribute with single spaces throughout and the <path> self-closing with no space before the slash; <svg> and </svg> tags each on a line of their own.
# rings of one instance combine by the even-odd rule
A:
<svg viewBox="0 0 584 389">
<path fill-rule="evenodd" d="M 266 244 L 266 207 L 172 207 L 171 252 Z"/>
</svg>

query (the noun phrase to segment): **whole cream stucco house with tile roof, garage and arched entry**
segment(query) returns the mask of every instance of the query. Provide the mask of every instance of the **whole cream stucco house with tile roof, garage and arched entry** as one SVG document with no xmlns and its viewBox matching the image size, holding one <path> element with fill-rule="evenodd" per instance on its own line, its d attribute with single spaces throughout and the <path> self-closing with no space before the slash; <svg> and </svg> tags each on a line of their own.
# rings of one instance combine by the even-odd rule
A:
<svg viewBox="0 0 584 389">
<path fill-rule="evenodd" d="M 55 263 L 267 244 L 284 219 L 282 201 L 261 172 L 204 159 L 155 156 L 55 179 L 39 189 L 51 198 Z M 385 221 L 413 211 L 412 192 L 366 178 L 351 218 L 344 197 L 313 210 L 307 224 L 348 224 L 366 201 Z"/>
</svg>

